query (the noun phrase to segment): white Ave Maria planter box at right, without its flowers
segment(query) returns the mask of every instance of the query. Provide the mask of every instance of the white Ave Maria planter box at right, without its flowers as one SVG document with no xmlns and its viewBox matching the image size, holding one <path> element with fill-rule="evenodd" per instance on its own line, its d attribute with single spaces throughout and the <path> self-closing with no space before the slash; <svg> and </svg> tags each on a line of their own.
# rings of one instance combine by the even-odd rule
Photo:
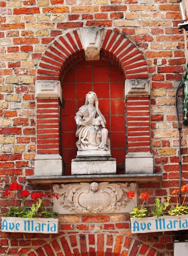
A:
<svg viewBox="0 0 188 256">
<path fill-rule="evenodd" d="M 131 218 L 132 233 L 149 233 L 188 229 L 188 215 Z"/>
</svg>

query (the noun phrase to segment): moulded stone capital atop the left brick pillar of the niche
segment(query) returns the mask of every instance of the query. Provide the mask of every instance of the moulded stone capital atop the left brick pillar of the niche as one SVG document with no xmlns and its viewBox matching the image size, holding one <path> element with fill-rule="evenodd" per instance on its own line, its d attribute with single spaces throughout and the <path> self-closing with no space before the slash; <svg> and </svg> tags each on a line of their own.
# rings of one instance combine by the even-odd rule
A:
<svg viewBox="0 0 188 256">
<path fill-rule="evenodd" d="M 36 81 L 36 98 L 58 98 L 62 102 L 62 89 L 60 81 Z"/>
</svg>

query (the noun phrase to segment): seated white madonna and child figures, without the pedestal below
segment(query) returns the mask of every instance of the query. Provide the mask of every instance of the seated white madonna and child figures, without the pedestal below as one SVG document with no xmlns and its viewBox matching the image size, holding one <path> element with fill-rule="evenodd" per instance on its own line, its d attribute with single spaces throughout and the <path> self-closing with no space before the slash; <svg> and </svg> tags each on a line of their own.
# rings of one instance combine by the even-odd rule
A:
<svg viewBox="0 0 188 256">
<path fill-rule="evenodd" d="M 96 93 L 88 92 L 85 96 L 85 105 L 76 113 L 77 123 L 76 143 L 78 151 L 110 150 L 106 120 L 99 109 Z"/>
</svg>

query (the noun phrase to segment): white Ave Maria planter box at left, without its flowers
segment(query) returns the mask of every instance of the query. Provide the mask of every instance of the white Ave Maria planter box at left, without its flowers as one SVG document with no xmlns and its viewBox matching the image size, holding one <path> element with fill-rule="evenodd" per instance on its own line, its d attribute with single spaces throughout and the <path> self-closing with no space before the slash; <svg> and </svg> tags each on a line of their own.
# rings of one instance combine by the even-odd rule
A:
<svg viewBox="0 0 188 256">
<path fill-rule="evenodd" d="M 2 217 L 2 232 L 58 233 L 58 218 Z"/>
</svg>

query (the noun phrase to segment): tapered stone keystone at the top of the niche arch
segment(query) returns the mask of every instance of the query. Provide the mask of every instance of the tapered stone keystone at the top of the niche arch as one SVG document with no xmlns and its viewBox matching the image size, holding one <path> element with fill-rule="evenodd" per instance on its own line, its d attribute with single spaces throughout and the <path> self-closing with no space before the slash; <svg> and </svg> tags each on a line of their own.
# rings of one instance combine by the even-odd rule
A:
<svg viewBox="0 0 188 256">
<path fill-rule="evenodd" d="M 100 60 L 100 47 L 103 37 L 103 28 L 80 28 L 80 33 L 85 50 L 86 61 Z"/>
</svg>

